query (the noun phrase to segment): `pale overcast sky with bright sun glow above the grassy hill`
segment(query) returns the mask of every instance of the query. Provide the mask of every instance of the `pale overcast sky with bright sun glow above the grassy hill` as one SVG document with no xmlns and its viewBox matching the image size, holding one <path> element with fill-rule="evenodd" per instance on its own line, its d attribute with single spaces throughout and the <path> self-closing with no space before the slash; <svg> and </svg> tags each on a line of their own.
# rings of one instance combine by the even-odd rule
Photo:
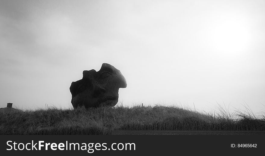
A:
<svg viewBox="0 0 265 156">
<path fill-rule="evenodd" d="M 72 81 L 109 63 L 123 105 L 264 111 L 264 28 L 263 0 L 1 0 L 0 108 L 72 108 Z"/>
</svg>

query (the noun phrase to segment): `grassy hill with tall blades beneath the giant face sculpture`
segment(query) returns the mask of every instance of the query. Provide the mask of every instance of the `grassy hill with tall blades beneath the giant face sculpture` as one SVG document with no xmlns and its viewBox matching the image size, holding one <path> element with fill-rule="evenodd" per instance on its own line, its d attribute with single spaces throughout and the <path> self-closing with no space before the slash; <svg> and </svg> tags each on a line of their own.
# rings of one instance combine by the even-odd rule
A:
<svg viewBox="0 0 265 156">
<path fill-rule="evenodd" d="M 84 107 L 0 112 L 0 134 L 111 134 L 113 130 L 265 131 L 265 117 L 199 113 L 173 106 Z"/>
</svg>

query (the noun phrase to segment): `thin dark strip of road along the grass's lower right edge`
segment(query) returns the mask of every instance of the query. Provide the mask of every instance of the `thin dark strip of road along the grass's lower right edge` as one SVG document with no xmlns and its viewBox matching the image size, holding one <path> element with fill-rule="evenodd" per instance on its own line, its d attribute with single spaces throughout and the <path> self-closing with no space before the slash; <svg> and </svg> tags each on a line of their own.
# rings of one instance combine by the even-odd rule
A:
<svg viewBox="0 0 265 156">
<path fill-rule="evenodd" d="M 265 135 L 265 131 L 112 131 L 112 135 Z"/>
</svg>

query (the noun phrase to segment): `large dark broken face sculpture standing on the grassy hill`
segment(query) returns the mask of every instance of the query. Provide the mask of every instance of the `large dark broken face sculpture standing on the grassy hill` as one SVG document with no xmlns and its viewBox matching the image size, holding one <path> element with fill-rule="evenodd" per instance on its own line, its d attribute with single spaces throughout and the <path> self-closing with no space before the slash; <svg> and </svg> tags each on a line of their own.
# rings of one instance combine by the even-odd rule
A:
<svg viewBox="0 0 265 156">
<path fill-rule="evenodd" d="M 120 70 L 103 63 L 98 72 L 94 69 L 84 70 L 83 78 L 72 82 L 70 86 L 71 103 L 73 108 L 82 105 L 86 108 L 100 105 L 113 107 L 118 102 L 119 88 L 126 88 L 126 86 L 126 80 Z"/>
</svg>

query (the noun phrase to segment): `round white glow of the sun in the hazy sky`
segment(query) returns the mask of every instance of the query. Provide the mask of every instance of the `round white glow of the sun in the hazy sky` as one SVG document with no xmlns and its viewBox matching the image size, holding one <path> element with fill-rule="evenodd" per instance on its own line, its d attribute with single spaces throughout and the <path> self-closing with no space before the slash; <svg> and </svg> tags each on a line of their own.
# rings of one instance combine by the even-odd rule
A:
<svg viewBox="0 0 265 156">
<path fill-rule="evenodd" d="M 248 23 L 242 17 L 219 20 L 210 30 L 210 40 L 214 50 L 229 56 L 240 55 L 250 46 Z"/>
</svg>

